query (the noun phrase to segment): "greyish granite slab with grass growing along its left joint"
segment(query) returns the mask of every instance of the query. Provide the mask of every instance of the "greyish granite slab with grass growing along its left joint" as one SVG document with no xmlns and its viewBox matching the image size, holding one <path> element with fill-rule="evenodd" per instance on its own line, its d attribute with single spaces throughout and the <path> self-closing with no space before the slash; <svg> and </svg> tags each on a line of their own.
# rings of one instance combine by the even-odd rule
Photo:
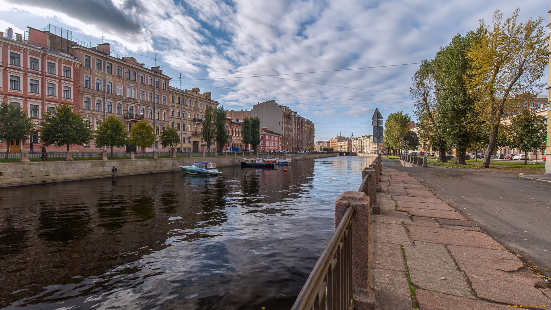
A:
<svg viewBox="0 0 551 310">
<path fill-rule="evenodd" d="M 473 298 L 471 288 L 457 270 L 445 245 L 415 242 L 414 246 L 406 245 L 404 248 L 409 277 L 416 286 L 429 291 Z"/>
</svg>

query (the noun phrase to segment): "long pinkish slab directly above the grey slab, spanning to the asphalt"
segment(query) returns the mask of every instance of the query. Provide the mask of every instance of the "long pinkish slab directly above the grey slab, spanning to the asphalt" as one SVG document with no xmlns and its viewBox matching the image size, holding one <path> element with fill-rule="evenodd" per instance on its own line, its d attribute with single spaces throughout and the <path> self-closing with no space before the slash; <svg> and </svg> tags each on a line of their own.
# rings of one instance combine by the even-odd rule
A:
<svg viewBox="0 0 551 310">
<path fill-rule="evenodd" d="M 501 244 L 495 242 L 490 236 L 481 232 L 459 231 L 455 229 L 426 226 L 408 226 L 408 229 L 414 241 L 505 250 Z"/>
</svg>

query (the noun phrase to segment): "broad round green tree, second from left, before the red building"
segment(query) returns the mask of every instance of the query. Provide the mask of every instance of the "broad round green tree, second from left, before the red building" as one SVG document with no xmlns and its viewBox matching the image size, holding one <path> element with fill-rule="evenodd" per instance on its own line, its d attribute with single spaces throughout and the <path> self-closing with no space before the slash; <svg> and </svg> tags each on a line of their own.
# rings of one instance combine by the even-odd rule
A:
<svg viewBox="0 0 551 310">
<path fill-rule="evenodd" d="M 45 145 L 67 146 L 83 145 L 90 141 L 92 130 L 90 121 L 74 113 L 73 106 L 63 104 L 55 111 L 46 114 L 41 129 L 42 142 Z"/>
</svg>

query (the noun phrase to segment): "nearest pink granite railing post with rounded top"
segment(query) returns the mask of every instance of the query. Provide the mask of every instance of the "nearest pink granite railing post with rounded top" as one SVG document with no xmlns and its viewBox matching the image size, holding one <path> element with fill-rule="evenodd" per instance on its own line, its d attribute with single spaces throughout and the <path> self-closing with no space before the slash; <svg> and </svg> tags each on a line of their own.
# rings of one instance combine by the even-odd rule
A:
<svg viewBox="0 0 551 310">
<path fill-rule="evenodd" d="M 369 269 L 370 198 L 361 191 L 345 191 L 335 202 L 335 227 L 349 207 L 352 222 L 352 290 L 356 310 L 375 309 L 375 278 Z"/>
</svg>

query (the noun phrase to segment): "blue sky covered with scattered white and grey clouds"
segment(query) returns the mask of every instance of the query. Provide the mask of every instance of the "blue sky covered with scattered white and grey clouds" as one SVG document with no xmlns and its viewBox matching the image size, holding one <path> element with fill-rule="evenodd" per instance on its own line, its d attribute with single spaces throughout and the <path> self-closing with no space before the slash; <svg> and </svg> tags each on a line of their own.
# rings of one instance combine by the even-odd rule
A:
<svg viewBox="0 0 551 310">
<path fill-rule="evenodd" d="M 375 108 L 383 117 L 413 115 L 409 87 L 418 62 L 476 29 L 480 18 L 490 22 L 494 10 L 510 16 L 518 7 L 521 21 L 544 17 L 547 25 L 549 4 L 0 0 L 0 29 L 23 34 L 27 26 L 52 24 L 83 42 L 103 40 L 120 56 L 162 66 L 174 87 L 211 92 L 226 109 L 276 100 L 312 120 L 316 141 L 325 141 L 341 132 L 370 135 Z"/>
</svg>

